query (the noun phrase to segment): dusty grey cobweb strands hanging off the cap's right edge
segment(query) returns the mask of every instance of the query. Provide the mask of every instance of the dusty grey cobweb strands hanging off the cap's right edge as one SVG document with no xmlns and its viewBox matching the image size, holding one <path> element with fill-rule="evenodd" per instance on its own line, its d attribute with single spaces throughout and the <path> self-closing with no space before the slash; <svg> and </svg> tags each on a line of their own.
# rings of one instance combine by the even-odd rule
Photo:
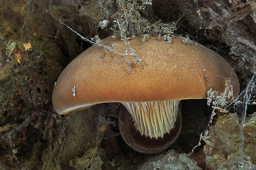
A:
<svg viewBox="0 0 256 170">
<path fill-rule="evenodd" d="M 192 151 L 189 153 L 191 155 L 194 152 L 194 149 L 199 147 L 201 145 L 201 140 L 204 140 L 206 144 L 209 144 L 211 147 L 215 147 L 215 144 L 210 142 L 208 139 L 209 136 L 209 127 L 211 126 L 211 123 L 213 121 L 213 117 L 216 115 L 216 112 L 219 113 L 225 113 L 229 114 L 230 108 L 234 109 L 234 112 L 237 116 L 235 116 L 237 126 L 240 130 L 240 142 L 239 142 L 239 162 L 237 165 L 240 168 L 249 168 L 247 161 L 247 157 L 244 155 L 244 133 L 245 133 L 245 123 L 246 123 L 246 117 L 247 117 L 247 110 L 249 105 L 255 105 L 256 104 L 256 73 L 252 75 L 252 77 L 247 79 L 247 85 L 243 89 L 243 91 L 239 94 L 239 96 L 231 103 L 227 103 L 226 105 L 219 105 L 219 101 L 223 101 L 223 95 L 217 96 L 217 98 L 212 98 L 210 93 L 208 94 L 208 104 L 211 102 L 213 103 L 213 111 L 211 114 L 211 119 L 209 121 L 208 126 L 206 127 L 206 130 L 200 134 L 200 140 L 197 146 L 195 146 Z M 225 92 L 228 92 L 230 87 L 227 87 L 225 89 Z M 230 89 L 232 90 L 232 88 Z M 225 93 L 224 92 L 224 93 Z M 255 112 L 254 112 L 255 114 Z M 251 167 L 255 167 L 252 163 L 249 163 Z"/>
</svg>

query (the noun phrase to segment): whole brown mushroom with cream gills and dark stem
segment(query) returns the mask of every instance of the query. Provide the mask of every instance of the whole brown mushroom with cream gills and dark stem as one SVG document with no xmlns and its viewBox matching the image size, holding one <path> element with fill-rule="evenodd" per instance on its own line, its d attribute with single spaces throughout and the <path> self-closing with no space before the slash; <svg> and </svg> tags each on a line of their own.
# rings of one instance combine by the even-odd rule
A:
<svg viewBox="0 0 256 170">
<path fill-rule="evenodd" d="M 192 40 L 183 44 L 183 38 L 176 35 L 166 44 L 156 36 L 143 43 L 142 37 L 135 37 L 128 44 L 108 37 L 104 44 L 114 50 L 88 48 L 55 83 L 55 111 L 67 114 L 121 102 L 126 109 L 121 108 L 119 128 L 126 143 L 142 153 L 163 151 L 180 133 L 180 100 L 207 98 L 209 89 L 224 93 L 228 86 L 233 89 L 229 101 L 239 93 L 237 75 L 223 57 Z M 129 47 L 135 51 L 129 53 Z M 135 54 L 141 62 L 134 60 Z"/>
</svg>

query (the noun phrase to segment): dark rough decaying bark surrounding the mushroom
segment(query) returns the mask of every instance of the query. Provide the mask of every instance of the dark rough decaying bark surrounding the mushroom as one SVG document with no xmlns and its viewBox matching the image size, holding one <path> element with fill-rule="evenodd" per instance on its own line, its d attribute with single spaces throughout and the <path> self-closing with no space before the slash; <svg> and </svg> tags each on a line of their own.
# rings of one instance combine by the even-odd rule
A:
<svg viewBox="0 0 256 170">
<path fill-rule="evenodd" d="M 90 46 L 61 22 L 88 38 L 173 31 L 188 35 L 229 61 L 243 89 L 256 71 L 256 2 L 81 0 L 81 5 L 76 0 L 0 0 L 0 169 L 164 169 L 171 166 L 166 160 L 200 169 L 173 151 L 161 153 L 166 156 L 157 161 L 155 155 L 130 149 L 118 134 L 118 104 L 65 116 L 55 113 L 51 95 L 56 79 Z M 104 19 L 109 23 L 99 25 Z M 207 126 L 211 107 L 206 100 L 182 105 L 183 130 L 171 149 L 187 154 Z M 249 112 L 255 110 L 251 105 Z M 230 169 L 239 159 L 241 132 L 233 120 L 240 118 L 233 116 L 214 118 L 209 130 L 214 138 L 208 139 L 214 145 L 206 142 L 191 156 L 201 168 Z M 255 115 L 247 120 L 244 157 L 246 163 L 256 164 Z"/>
</svg>

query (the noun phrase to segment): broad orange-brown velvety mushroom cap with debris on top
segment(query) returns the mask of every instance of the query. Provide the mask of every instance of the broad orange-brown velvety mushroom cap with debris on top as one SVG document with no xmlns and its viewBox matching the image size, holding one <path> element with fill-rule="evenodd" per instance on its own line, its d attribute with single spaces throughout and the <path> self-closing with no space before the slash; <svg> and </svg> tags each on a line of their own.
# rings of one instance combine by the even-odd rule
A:
<svg viewBox="0 0 256 170">
<path fill-rule="evenodd" d="M 171 44 L 156 37 L 150 36 L 143 43 L 142 37 L 129 40 L 142 60 L 139 63 L 132 55 L 122 56 L 96 45 L 83 51 L 56 82 L 52 93 L 55 111 L 66 114 L 102 102 L 207 98 L 209 89 L 223 93 L 230 83 L 237 98 L 237 75 L 223 57 L 192 40 L 183 44 L 182 36 L 173 37 Z M 119 53 L 126 51 L 127 44 L 119 37 L 103 41 L 115 44 Z M 75 96 L 71 91 L 74 86 Z"/>
</svg>

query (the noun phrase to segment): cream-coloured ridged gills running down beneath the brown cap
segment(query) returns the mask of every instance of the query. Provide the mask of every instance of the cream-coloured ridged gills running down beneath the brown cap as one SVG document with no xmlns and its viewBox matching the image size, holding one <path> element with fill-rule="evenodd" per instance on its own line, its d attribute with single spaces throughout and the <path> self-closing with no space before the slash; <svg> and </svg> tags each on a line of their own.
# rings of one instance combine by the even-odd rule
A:
<svg viewBox="0 0 256 170">
<path fill-rule="evenodd" d="M 141 135 L 163 137 L 173 128 L 180 100 L 155 102 L 122 102 L 133 117 L 134 126 Z"/>
</svg>

